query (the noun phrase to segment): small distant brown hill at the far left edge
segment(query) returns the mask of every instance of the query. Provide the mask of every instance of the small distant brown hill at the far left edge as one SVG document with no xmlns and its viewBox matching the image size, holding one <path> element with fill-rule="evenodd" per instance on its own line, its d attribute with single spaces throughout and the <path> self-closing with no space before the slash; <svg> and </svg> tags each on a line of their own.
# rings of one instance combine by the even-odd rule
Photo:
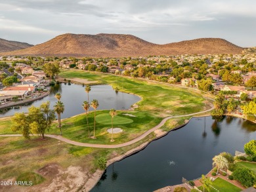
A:
<svg viewBox="0 0 256 192">
<path fill-rule="evenodd" d="M 28 43 L 21 43 L 18 41 L 8 41 L 5 39 L 0 39 L 0 52 L 19 50 L 28 47 L 33 47 L 33 45 L 30 45 Z"/>
</svg>

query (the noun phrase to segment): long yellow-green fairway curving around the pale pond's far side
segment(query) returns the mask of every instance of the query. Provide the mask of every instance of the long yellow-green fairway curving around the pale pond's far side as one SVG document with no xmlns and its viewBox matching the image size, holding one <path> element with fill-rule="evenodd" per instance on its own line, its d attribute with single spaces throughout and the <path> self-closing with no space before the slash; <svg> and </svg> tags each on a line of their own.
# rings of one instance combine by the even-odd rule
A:
<svg viewBox="0 0 256 192">
<path fill-rule="evenodd" d="M 148 111 L 151 115 L 166 117 L 202 111 L 205 107 L 202 96 L 184 88 L 161 85 L 146 80 L 137 80 L 106 73 L 91 73 L 78 69 L 62 70 L 62 78 L 81 78 L 118 87 L 120 91 L 137 94 L 143 98 L 137 111 Z"/>
</svg>

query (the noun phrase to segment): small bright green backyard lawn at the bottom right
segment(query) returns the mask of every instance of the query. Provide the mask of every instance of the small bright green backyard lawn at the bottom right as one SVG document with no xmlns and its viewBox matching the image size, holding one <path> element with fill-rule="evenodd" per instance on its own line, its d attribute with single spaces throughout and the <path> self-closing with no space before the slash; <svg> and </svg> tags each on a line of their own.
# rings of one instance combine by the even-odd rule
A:
<svg viewBox="0 0 256 192">
<path fill-rule="evenodd" d="M 232 183 L 226 182 L 225 180 L 223 180 L 221 178 L 217 178 L 216 180 L 214 180 L 212 186 L 215 187 L 215 189 L 219 190 L 220 192 L 231 192 L 231 191 L 232 192 L 239 192 L 239 191 L 242 191 L 242 189 L 236 187 Z M 215 189 L 213 189 L 213 187 L 211 187 L 210 192 L 217 192 Z M 198 189 L 203 191 L 202 186 L 198 187 Z"/>
</svg>

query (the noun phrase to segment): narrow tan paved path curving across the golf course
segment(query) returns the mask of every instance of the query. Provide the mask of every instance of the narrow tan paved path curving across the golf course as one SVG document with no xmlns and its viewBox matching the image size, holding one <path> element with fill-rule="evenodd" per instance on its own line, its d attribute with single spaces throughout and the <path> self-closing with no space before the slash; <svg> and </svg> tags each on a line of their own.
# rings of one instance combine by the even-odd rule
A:
<svg viewBox="0 0 256 192">
<path fill-rule="evenodd" d="M 154 126 L 153 128 L 151 128 L 150 130 L 144 132 L 144 134 L 140 135 L 139 137 L 123 143 L 123 144 L 117 144 L 117 145 L 103 145 L 103 144 L 88 144 L 88 143 L 81 143 L 81 142 L 75 142 L 72 140 L 68 140 L 67 138 L 64 138 L 62 136 L 58 136 L 58 135 L 52 135 L 52 134 L 45 134 L 46 137 L 49 138 L 54 138 L 56 140 L 60 140 L 62 142 L 66 142 L 67 144 L 72 144 L 72 145 L 77 145 L 77 146 L 82 146 L 82 147 L 95 147 L 95 148 L 119 148 L 119 147 L 125 147 L 127 145 L 131 145 L 131 144 L 135 144 L 136 142 L 139 142 L 140 140 L 142 140 L 143 138 L 145 138 L 146 136 L 148 136 L 150 133 L 154 132 L 155 130 L 157 130 L 158 128 L 160 128 L 161 126 L 163 126 L 165 124 L 165 122 L 169 119 L 173 119 L 173 118 L 177 118 L 177 117 L 188 117 L 188 116 L 192 116 L 192 115 L 198 115 L 200 113 L 205 113 L 205 112 L 209 112 L 211 110 L 213 110 L 214 107 L 211 107 L 211 109 L 207 109 L 205 111 L 200 111 L 198 113 L 191 113 L 191 114 L 187 114 L 187 115 L 177 115 L 177 116 L 171 116 L 171 117 L 165 117 L 165 119 L 163 119 L 160 124 Z M 6 134 L 6 135 L 0 135 L 1 137 L 16 137 L 16 136 L 22 136 L 22 134 Z"/>
</svg>

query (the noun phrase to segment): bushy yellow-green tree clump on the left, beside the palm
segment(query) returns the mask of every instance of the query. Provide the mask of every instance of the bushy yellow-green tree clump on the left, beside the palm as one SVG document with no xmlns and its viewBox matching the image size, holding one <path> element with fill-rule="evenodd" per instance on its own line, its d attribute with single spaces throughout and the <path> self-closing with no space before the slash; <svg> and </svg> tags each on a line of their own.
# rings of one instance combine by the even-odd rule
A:
<svg viewBox="0 0 256 192">
<path fill-rule="evenodd" d="M 54 119 L 55 113 L 50 109 L 50 102 L 45 102 L 39 107 L 30 107 L 28 115 L 16 113 L 12 117 L 12 130 L 22 132 L 27 139 L 30 138 L 30 134 L 40 134 L 44 139 L 45 130 L 50 128 Z"/>
</svg>

